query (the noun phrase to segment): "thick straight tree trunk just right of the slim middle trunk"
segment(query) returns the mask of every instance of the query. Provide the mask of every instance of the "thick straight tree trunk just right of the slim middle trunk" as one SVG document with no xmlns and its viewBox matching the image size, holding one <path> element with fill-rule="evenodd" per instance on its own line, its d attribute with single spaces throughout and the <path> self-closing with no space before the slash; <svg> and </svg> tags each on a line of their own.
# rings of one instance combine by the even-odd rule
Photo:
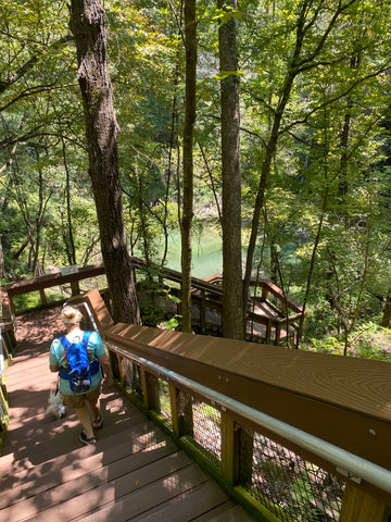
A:
<svg viewBox="0 0 391 522">
<path fill-rule="evenodd" d="M 217 0 L 217 7 L 236 9 L 237 0 Z M 241 172 L 240 110 L 236 18 L 218 30 L 222 79 L 222 166 L 223 166 L 223 336 L 242 339 L 242 259 L 241 259 Z"/>
</svg>

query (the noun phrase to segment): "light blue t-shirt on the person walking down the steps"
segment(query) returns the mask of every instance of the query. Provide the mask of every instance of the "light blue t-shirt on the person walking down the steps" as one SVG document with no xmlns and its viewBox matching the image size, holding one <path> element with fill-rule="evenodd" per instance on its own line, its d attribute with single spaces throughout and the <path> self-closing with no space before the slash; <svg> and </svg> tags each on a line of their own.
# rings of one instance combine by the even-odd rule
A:
<svg viewBox="0 0 391 522">
<path fill-rule="evenodd" d="M 100 335 L 97 332 L 91 332 L 91 335 L 88 339 L 88 356 L 90 362 L 96 360 L 99 356 L 103 356 L 106 351 Z M 65 348 L 60 341 L 60 339 L 54 339 L 50 347 L 50 356 L 49 356 L 49 363 L 52 366 L 58 364 L 62 365 L 63 368 L 67 366 L 66 359 L 65 359 Z M 99 368 L 99 372 L 91 375 L 91 387 L 90 391 L 96 389 L 99 386 L 100 382 L 103 378 L 102 370 Z M 75 394 L 71 389 L 71 384 L 67 378 L 60 377 L 60 390 L 65 395 L 84 395 L 84 394 Z"/>
</svg>

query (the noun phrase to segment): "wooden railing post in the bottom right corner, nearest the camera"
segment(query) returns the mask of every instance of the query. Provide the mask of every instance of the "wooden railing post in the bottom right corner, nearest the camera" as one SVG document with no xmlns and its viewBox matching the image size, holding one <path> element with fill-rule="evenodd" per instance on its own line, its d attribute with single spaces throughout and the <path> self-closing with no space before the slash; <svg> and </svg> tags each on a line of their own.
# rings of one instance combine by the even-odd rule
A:
<svg viewBox="0 0 391 522">
<path fill-rule="evenodd" d="M 390 506 L 346 484 L 339 522 L 388 522 L 390 515 Z"/>
</svg>

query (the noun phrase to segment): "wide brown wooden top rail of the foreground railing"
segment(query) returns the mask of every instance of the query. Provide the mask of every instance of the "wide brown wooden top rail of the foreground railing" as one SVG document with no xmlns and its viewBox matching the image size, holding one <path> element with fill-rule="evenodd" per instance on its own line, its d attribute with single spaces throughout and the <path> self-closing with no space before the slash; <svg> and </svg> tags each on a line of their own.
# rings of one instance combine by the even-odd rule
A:
<svg viewBox="0 0 391 522">
<path fill-rule="evenodd" d="M 391 472 L 389 363 L 166 332 L 147 326 L 113 324 L 97 290 L 78 299 L 85 300 L 89 308 L 99 311 L 94 313 L 97 326 L 108 343 L 108 348 L 113 349 L 113 353 L 119 358 L 117 378 L 122 378 L 121 360 L 126 359 L 127 353 L 129 360 L 131 355 L 136 355 Z M 115 347 L 121 348 L 121 352 Z M 148 381 L 148 375 L 144 375 L 144 378 Z M 156 389 L 156 386 L 146 385 L 143 389 L 147 396 L 146 405 L 153 409 L 151 405 L 156 403 L 155 399 L 148 395 L 149 390 Z M 227 419 L 231 417 L 229 411 L 224 412 Z M 236 422 L 260 431 L 256 424 L 245 424 L 240 415 L 235 417 L 234 422 L 228 424 L 225 421 L 224 426 L 230 425 L 235 432 L 238 428 L 235 427 Z M 175 420 L 173 423 L 177 425 Z M 234 432 L 225 435 L 224 440 L 235 436 Z M 391 506 L 389 493 L 365 482 L 360 485 L 351 482 L 341 475 L 343 470 L 336 469 L 335 464 L 317 458 L 305 448 L 292 446 L 280 435 L 277 438 L 273 433 L 265 435 L 310 462 L 343 477 L 348 483 L 343 507 L 343 517 L 346 518 L 341 517 L 340 520 L 367 522 L 365 517 L 368 511 L 364 509 L 364 514 L 360 514 L 361 508 L 356 504 L 364 502 L 366 508 L 377 506 L 378 511 L 374 511 L 371 522 L 383 521 L 381 517 L 388 512 L 387 506 Z M 227 451 L 234 451 L 234 448 L 235 446 L 231 446 L 230 450 L 222 449 L 224 459 L 234 458 L 232 455 L 227 457 Z M 222 462 L 222 469 L 226 468 L 227 463 Z M 354 506 L 350 506 L 352 499 L 355 499 Z M 377 512 L 381 512 L 381 517 L 375 514 Z M 356 518 L 349 518 L 346 513 L 349 517 L 355 513 Z"/>
</svg>

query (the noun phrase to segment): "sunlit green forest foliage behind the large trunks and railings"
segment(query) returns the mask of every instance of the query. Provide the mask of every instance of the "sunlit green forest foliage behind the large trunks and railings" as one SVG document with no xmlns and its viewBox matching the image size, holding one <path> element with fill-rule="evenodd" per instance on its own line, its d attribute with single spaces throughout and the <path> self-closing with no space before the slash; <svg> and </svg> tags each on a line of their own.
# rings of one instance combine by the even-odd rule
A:
<svg viewBox="0 0 391 522">
<path fill-rule="evenodd" d="M 184 4 L 104 2 L 129 253 L 157 265 L 182 219 Z M 237 66 L 225 71 L 230 23 Z M 304 303 L 307 346 L 377 357 L 391 322 L 391 3 L 202 0 L 195 24 L 192 234 L 227 240 L 222 85 L 235 84 L 240 276 Z M 2 282 L 100 261 L 67 3 L 4 0 L 0 57 Z"/>
</svg>

